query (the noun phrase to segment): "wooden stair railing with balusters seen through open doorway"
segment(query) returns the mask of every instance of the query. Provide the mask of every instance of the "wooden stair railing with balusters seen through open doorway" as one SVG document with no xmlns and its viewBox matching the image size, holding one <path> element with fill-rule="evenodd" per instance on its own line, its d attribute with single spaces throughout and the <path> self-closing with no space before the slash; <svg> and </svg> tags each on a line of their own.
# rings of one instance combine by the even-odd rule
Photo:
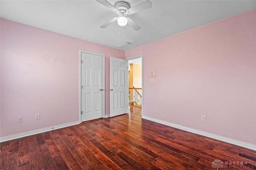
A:
<svg viewBox="0 0 256 170">
<path fill-rule="evenodd" d="M 142 108 L 142 88 L 129 88 L 129 106 Z"/>
</svg>

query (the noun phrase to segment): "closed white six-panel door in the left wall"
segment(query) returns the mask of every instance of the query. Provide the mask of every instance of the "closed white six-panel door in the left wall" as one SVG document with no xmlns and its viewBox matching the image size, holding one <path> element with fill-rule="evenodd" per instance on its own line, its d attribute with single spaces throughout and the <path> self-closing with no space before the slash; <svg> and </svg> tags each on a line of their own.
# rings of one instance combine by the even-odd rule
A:
<svg viewBox="0 0 256 170">
<path fill-rule="evenodd" d="M 103 117 L 104 55 L 80 51 L 81 56 L 81 121 Z"/>
</svg>

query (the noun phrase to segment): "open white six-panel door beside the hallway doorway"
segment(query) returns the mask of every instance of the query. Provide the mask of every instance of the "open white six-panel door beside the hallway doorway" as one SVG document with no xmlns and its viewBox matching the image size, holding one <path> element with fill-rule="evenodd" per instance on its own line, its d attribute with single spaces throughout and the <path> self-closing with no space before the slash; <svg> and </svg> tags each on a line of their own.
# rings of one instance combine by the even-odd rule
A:
<svg viewBox="0 0 256 170">
<path fill-rule="evenodd" d="M 128 113 L 127 60 L 110 57 L 110 117 Z"/>
</svg>

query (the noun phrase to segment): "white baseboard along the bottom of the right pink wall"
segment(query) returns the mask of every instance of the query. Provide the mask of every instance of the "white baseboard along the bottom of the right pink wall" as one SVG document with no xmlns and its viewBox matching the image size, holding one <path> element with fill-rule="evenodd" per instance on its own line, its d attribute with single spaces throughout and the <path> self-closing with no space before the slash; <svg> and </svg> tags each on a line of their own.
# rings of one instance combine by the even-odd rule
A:
<svg viewBox="0 0 256 170">
<path fill-rule="evenodd" d="M 185 126 L 182 126 L 182 125 L 177 125 L 177 124 L 170 123 L 170 122 L 167 122 L 167 121 L 162 121 L 162 120 L 159 120 L 159 119 L 154 119 L 154 118 L 147 117 L 147 116 L 142 116 L 142 118 L 150 120 L 150 121 L 154 121 L 156 123 L 160 123 L 160 124 L 163 124 L 163 125 L 167 125 L 167 126 L 170 126 L 170 127 L 174 127 L 176 129 L 181 129 L 181 130 L 188 131 L 188 132 L 191 132 L 191 133 L 195 133 L 195 134 L 198 134 L 198 135 L 202 135 L 202 136 L 205 136 L 205 137 L 210 137 L 212 139 L 217 139 L 219 141 L 223 141 L 223 142 L 226 142 L 226 143 L 231 143 L 233 145 L 237 145 L 237 146 L 244 147 L 244 148 L 247 148 L 247 149 L 256 150 L 256 145 L 253 145 L 253 144 L 250 144 L 250 143 L 245 143 L 245 142 L 242 142 L 242 141 L 237 141 L 235 139 L 230 139 L 230 138 L 227 138 L 227 137 L 214 135 L 212 133 L 199 131 L 199 130 L 196 130 L 196 129 L 192 129 L 192 128 L 185 127 Z"/>
</svg>

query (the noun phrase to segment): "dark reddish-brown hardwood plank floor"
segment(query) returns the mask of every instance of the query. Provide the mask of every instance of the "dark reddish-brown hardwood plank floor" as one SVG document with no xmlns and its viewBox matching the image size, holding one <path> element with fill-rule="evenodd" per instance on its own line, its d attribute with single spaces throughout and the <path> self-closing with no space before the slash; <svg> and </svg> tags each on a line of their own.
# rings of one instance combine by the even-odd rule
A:
<svg viewBox="0 0 256 170">
<path fill-rule="evenodd" d="M 1 170 L 256 169 L 256 151 L 129 114 L 0 143 Z"/>
</svg>

